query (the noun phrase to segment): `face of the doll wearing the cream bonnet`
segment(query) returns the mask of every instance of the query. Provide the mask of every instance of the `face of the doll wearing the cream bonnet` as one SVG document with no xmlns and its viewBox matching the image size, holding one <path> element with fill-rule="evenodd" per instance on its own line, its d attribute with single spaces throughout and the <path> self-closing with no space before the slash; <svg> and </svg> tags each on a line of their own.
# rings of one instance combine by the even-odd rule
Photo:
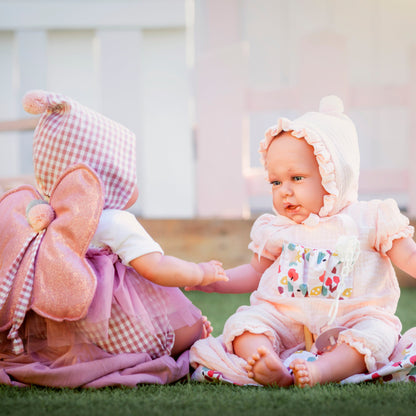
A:
<svg viewBox="0 0 416 416">
<path fill-rule="evenodd" d="M 266 166 L 277 213 L 298 224 L 311 213 L 319 213 L 327 192 L 313 147 L 305 139 L 297 139 L 289 132 L 279 134 L 269 146 Z"/>
</svg>

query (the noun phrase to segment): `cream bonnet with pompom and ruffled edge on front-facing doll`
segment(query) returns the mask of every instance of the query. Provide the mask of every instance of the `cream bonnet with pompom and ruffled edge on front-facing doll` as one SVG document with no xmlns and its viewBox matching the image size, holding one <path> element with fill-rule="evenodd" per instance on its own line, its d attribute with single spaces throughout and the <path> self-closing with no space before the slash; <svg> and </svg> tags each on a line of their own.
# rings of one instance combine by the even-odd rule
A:
<svg viewBox="0 0 416 416">
<path fill-rule="evenodd" d="M 292 131 L 314 148 L 325 195 L 320 217 L 334 215 L 358 198 L 360 153 L 357 131 L 352 120 L 344 114 L 342 100 L 334 95 L 323 97 L 319 112 L 308 112 L 291 121 L 279 118 L 266 130 L 259 152 L 266 164 L 270 143 L 282 131 Z M 266 166 L 266 165 L 265 165 Z"/>
</svg>

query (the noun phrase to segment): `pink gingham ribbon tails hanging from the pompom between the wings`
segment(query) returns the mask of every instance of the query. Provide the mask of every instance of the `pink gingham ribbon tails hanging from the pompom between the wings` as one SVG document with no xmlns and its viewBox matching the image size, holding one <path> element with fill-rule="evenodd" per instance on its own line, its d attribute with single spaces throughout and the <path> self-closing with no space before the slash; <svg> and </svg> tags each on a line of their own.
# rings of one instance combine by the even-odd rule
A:
<svg viewBox="0 0 416 416">
<path fill-rule="evenodd" d="M 32 295 L 33 288 L 33 279 L 35 275 L 35 259 L 36 254 L 39 249 L 40 242 L 42 237 L 45 234 L 45 230 L 42 230 L 39 233 L 31 234 L 26 242 L 24 243 L 22 249 L 17 255 L 15 261 L 13 262 L 10 270 L 6 274 L 6 279 L 3 281 L 2 286 L 0 287 L 0 309 L 3 307 L 6 302 L 10 290 L 13 285 L 14 278 L 19 269 L 20 263 L 23 260 L 23 257 L 29 248 L 30 244 L 33 242 L 32 247 L 30 247 L 30 266 L 29 270 L 24 278 L 24 283 L 21 292 L 19 293 L 19 298 L 13 313 L 12 327 L 10 328 L 7 338 L 12 341 L 12 349 L 15 354 L 21 354 L 24 351 L 22 340 L 19 337 L 19 328 L 23 323 L 23 320 L 28 309 L 29 301 Z"/>
</svg>

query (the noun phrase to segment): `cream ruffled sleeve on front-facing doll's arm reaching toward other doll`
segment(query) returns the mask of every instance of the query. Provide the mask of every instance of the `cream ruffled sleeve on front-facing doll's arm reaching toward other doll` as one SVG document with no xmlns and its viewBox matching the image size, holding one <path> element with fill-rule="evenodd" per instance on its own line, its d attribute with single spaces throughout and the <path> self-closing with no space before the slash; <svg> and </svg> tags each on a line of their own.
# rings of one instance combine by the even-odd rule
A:
<svg viewBox="0 0 416 416">
<path fill-rule="evenodd" d="M 272 261 L 280 256 L 283 240 L 279 233 L 282 225 L 278 222 L 278 218 L 271 214 L 257 218 L 251 229 L 251 242 L 248 245 L 253 253 Z"/>
</svg>

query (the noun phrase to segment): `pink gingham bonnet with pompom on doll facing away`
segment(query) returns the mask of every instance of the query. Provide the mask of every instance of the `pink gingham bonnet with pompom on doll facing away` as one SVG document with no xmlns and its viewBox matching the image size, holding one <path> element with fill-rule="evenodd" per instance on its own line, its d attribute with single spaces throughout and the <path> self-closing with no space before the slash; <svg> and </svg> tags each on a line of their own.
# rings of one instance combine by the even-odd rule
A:
<svg viewBox="0 0 416 416">
<path fill-rule="evenodd" d="M 34 133 L 33 161 L 39 191 L 50 197 L 72 165 L 84 163 L 101 179 L 104 208 L 122 209 L 136 186 L 135 135 L 121 124 L 61 94 L 29 91 L 23 108 L 42 114 Z"/>
</svg>

